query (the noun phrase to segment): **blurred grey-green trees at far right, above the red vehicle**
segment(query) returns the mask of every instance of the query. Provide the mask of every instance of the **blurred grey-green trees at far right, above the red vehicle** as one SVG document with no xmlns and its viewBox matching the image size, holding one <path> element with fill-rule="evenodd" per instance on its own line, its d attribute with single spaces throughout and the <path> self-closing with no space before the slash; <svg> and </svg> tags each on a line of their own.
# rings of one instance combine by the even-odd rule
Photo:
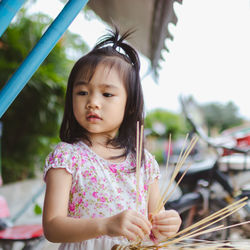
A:
<svg viewBox="0 0 250 250">
<path fill-rule="evenodd" d="M 217 128 L 219 132 L 242 124 L 243 119 L 238 114 L 238 108 L 232 102 L 223 105 L 210 103 L 202 105 L 206 124 L 209 130 Z"/>
</svg>

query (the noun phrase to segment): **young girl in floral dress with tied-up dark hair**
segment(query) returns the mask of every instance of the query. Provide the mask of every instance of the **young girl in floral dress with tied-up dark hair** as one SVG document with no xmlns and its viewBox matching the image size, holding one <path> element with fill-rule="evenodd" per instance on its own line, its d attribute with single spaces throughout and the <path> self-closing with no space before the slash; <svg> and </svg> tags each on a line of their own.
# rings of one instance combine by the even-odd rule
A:
<svg viewBox="0 0 250 250">
<path fill-rule="evenodd" d="M 137 209 L 136 124 L 143 124 L 143 94 L 138 54 L 124 42 L 129 35 L 111 32 L 69 76 L 62 142 L 44 170 L 44 233 L 62 243 L 59 249 L 111 249 L 150 233 L 161 240 L 181 224 L 173 210 L 151 215 L 160 172 L 146 149 Z"/>
</svg>

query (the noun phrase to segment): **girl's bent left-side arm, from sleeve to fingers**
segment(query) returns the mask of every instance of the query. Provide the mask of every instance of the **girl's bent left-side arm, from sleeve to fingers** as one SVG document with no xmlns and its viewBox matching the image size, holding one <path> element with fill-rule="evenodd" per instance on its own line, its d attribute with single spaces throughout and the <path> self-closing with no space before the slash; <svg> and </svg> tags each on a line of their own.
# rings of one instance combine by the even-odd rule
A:
<svg viewBox="0 0 250 250">
<path fill-rule="evenodd" d="M 150 232 L 150 223 L 142 215 L 126 210 L 107 218 L 70 218 L 69 193 L 72 176 L 65 169 L 50 169 L 46 175 L 43 229 L 52 242 L 80 242 L 102 235 L 124 236 L 130 240 Z"/>
</svg>

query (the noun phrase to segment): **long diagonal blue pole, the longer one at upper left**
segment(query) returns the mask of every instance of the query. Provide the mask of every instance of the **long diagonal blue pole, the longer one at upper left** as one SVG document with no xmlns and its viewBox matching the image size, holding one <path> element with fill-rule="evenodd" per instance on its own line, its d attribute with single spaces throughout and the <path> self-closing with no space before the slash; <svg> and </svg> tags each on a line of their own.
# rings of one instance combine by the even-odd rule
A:
<svg viewBox="0 0 250 250">
<path fill-rule="evenodd" d="M 0 92 L 0 118 L 87 2 L 88 0 L 69 0 L 14 75 L 5 84 Z"/>
</svg>

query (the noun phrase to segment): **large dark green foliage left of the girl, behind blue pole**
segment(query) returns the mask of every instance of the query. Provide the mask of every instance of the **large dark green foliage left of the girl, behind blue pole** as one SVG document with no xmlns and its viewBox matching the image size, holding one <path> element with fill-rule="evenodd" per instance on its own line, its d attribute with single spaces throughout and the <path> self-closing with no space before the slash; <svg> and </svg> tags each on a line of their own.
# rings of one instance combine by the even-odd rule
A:
<svg viewBox="0 0 250 250">
<path fill-rule="evenodd" d="M 0 39 L 0 87 L 39 41 L 51 19 L 20 11 Z M 68 41 L 71 41 L 70 43 Z M 50 144 L 59 141 L 67 77 L 73 65 L 66 49 L 86 50 L 66 32 L 3 115 L 2 174 L 5 183 L 31 178 L 42 166 Z"/>
</svg>

